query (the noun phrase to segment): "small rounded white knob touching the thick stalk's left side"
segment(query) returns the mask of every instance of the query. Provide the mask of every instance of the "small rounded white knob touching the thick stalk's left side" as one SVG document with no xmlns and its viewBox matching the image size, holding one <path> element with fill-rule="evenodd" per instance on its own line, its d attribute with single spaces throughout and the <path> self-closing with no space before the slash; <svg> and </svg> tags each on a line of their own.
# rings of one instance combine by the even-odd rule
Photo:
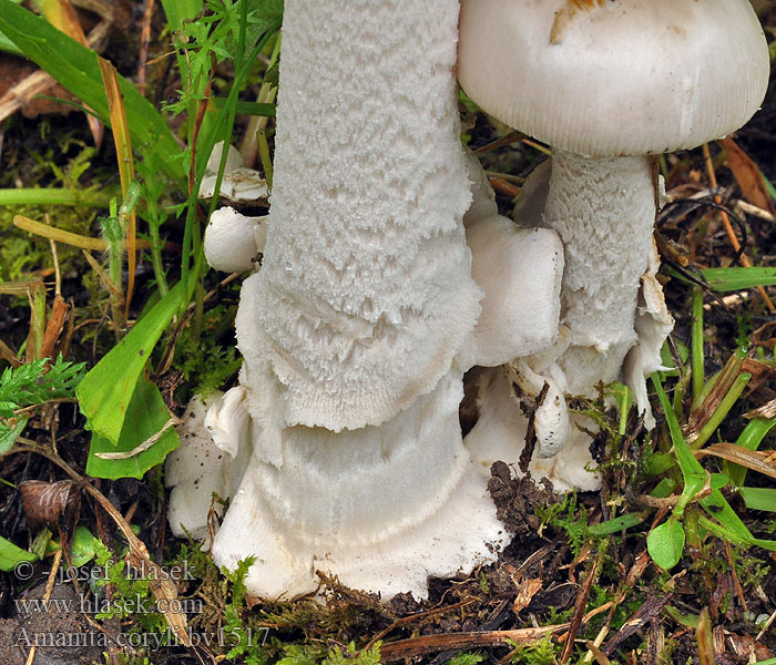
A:
<svg viewBox="0 0 776 665">
<path fill-rule="evenodd" d="M 246 217 L 234 208 L 218 208 L 205 228 L 205 258 L 211 267 L 225 273 L 242 273 L 254 267 L 264 250 L 266 217 Z"/>
</svg>

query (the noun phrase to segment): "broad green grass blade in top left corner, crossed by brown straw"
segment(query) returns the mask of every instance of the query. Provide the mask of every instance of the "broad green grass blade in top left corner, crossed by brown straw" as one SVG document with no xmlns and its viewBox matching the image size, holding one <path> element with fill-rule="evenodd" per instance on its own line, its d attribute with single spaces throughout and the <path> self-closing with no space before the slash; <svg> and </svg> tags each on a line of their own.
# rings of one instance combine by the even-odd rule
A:
<svg viewBox="0 0 776 665">
<path fill-rule="evenodd" d="M 110 124 L 108 100 L 94 51 L 60 32 L 44 18 L 18 7 L 12 0 L 0 0 L 0 31 L 11 39 L 24 55 L 89 105 L 100 120 Z M 167 174 L 183 184 L 183 164 L 180 161 L 170 161 L 181 149 L 164 117 L 121 76 L 119 88 L 124 98 L 133 145 L 137 150 L 156 153 Z"/>
</svg>

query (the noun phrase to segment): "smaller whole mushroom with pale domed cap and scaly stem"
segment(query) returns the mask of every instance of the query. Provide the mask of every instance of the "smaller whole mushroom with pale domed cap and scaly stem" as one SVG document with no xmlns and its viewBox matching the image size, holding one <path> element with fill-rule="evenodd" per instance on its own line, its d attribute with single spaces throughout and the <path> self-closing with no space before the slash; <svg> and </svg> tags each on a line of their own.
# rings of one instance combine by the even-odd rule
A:
<svg viewBox="0 0 776 665">
<path fill-rule="evenodd" d="M 768 81 L 757 18 L 747 0 L 463 0 L 458 78 L 484 111 L 553 147 L 532 225 L 563 241 L 571 346 L 559 362 L 569 391 L 590 393 L 619 377 L 639 339 L 657 200 L 650 155 L 716 139 L 757 110 Z M 654 270 L 645 279 L 642 347 L 654 348 L 627 372 L 642 410 L 671 329 Z"/>
</svg>

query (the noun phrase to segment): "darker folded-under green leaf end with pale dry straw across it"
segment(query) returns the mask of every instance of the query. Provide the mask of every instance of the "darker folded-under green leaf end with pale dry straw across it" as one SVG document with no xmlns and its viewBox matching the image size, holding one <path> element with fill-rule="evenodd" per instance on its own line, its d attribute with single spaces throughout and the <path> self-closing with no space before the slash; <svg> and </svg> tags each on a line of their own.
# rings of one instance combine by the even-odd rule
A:
<svg viewBox="0 0 776 665">
<path fill-rule="evenodd" d="M 159 388 L 147 378 L 141 377 L 126 409 L 124 427 L 118 443 L 98 433 L 92 434 L 86 460 L 86 473 L 95 478 L 143 478 L 143 474 L 164 461 L 167 453 L 177 448 L 180 440 L 175 428 L 162 432 L 150 447 L 123 459 L 102 459 L 98 453 L 129 453 L 151 437 L 157 434 L 170 420 L 170 412 Z"/>
</svg>

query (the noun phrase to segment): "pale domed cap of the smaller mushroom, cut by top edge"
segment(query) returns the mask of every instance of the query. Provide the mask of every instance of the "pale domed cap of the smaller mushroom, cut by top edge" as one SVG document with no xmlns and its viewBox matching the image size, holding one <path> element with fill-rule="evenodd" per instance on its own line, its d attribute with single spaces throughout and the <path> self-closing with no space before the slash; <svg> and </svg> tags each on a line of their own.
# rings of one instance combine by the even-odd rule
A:
<svg viewBox="0 0 776 665">
<path fill-rule="evenodd" d="M 769 58 L 747 0 L 600 2 L 463 0 L 461 86 L 508 125 L 589 156 L 695 147 L 757 110 Z"/>
</svg>

